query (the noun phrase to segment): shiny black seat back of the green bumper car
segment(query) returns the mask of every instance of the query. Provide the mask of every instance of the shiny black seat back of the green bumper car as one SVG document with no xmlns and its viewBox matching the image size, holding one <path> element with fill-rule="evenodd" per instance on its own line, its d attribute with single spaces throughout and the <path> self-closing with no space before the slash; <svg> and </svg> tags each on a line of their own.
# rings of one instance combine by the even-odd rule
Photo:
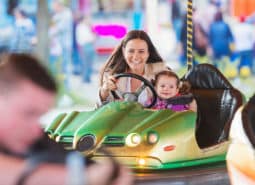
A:
<svg viewBox="0 0 255 185">
<path fill-rule="evenodd" d="M 243 96 L 211 64 L 193 66 L 182 78 L 191 84 L 197 102 L 196 139 L 206 148 L 228 139 L 234 113 Z"/>
</svg>

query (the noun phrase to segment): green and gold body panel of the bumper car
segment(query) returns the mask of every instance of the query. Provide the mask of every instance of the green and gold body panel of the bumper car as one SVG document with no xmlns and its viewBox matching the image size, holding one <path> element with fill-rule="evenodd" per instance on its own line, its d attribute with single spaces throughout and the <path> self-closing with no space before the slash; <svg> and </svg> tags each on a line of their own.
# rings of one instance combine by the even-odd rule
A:
<svg viewBox="0 0 255 185">
<path fill-rule="evenodd" d="M 96 110 L 62 114 L 45 129 L 67 149 L 77 149 L 84 135 L 95 136 L 95 146 L 84 155 L 105 157 L 106 148 L 117 160 L 133 168 L 170 169 L 224 161 L 228 142 L 200 149 L 195 138 L 197 114 L 192 111 L 145 109 L 135 102 L 111 102 Z M 158 133 L 155 144 L 147 142 L 150 131 Z M 128 146 L 128 135 L 138 133 L 141 143 Z M 145 164 L 141 164 L 141 159 Z"/>
</svg>

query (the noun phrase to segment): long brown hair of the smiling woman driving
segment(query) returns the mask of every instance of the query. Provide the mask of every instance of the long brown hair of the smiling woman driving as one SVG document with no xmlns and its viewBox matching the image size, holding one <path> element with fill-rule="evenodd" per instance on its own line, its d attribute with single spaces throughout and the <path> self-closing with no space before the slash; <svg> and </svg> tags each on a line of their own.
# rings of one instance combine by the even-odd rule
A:
<svg viewBox="0 0 255 185">
<path fill-rule="evenodd" d="M 145 31 L 142 30 L 132 30 L 129 31 L 121 43 L 115 48 L 109 59 L 107 60 L 105 66 L 101 71 L 101 83 L 103 80 L 103 75 L 105 72 L 110 72 L 110 74 L 118 74 L 124 73 L 128 69 L 128 65 L 125 61 L 123 56 L 122 48 L 125 48 L 128 41 L 133 39 L 141 39 L 144 40 L 148 45 L 148 52 L 149 58 L 147 63 L 156 63 L 156 62 L 163 62 L 163 59 L 157 52 L 156 48 L 154 47 L 150 37 Z"/>
</svg>

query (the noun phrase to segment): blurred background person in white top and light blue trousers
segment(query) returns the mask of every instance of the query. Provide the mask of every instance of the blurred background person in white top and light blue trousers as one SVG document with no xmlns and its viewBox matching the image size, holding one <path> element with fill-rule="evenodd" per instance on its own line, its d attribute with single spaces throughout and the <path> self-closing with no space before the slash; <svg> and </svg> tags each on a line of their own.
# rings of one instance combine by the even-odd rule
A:
<svg viewBox="0 0 255 185">
<path fill-rule="evenodd" d="M 93 73 L 93 62 L 95 58 L 94 42 L 96 39 L 89 17 L 83 16 L 77 24 L 76 39 L 81 59 L 82 79 L 83 82 L 89 83 Z"/>
</svg>

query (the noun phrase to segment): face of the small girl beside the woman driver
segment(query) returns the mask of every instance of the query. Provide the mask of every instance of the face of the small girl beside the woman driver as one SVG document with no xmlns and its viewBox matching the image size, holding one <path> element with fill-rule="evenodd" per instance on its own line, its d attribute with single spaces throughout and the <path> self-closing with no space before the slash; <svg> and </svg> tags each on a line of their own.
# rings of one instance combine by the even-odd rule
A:
<svg viewBox="0 0 255 185">
<path fill-rule="evenodd" d="M 155 90 L 157 95 L 162 99 L 174 97 L 179 92 L 177 79 L 172 76 L 159 76 Z"/>
</svg>

